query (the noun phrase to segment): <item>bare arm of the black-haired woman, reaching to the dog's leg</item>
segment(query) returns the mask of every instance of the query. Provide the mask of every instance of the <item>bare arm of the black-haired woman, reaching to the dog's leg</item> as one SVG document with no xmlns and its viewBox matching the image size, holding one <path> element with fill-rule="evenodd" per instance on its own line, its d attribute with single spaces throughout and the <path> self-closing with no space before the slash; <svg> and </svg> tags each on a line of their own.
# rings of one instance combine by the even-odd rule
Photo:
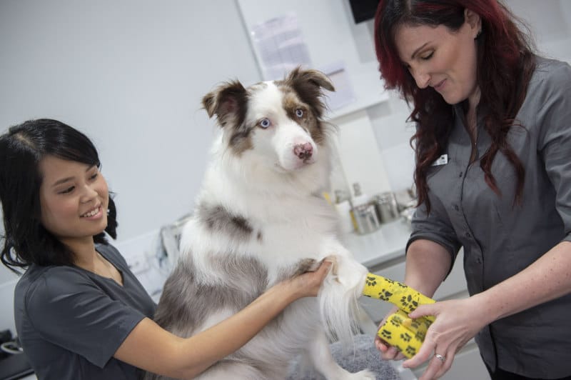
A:
<svg viewBox="0 0 571 380">
<path fill-rule="evenodd" d="M 193 378 L 248 343 L 296 299 L 316 296 L 330 264 L 325 261 L 313 273 L 276 284 L 238 313 L 221 314 L 218 324 L 186 339 L 145 318 L 128 334 L 114 356 L 155 374 Z"/>
</svg>

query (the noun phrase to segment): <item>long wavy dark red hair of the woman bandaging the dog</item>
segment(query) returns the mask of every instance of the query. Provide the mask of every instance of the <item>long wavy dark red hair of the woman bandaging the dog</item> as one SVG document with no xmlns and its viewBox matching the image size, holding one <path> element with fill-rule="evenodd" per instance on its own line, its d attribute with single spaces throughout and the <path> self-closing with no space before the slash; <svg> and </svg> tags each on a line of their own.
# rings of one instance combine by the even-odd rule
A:
<svg viewBox="0 0 571 380">
<path fill-rule="evenodd" d="M 412 109 L 409 119 L 417 124 L 410 139 L 415 149 L 414 181 L 418 204 L 428 200 L 426 174 L 430 165 L 444 153 L 453 127 L 453 106 L 434 89 L 419 89 L 400 61 L 395 45 L 395 29 L 400 25 L 445 25 L 457 31 L 463 25 L 465 9 L 480 15 L 482 34 L 477 37 L 477 85 L 480 104 L 489 110 L 484 124 L 492 139 L 490 149 L 480 159 L 485 181 L 501 195 L 492 176 L 492 161 L 500 151 L 515 169 L 517 187 L 514 203 L 522 199 L 525 169 L 507 143 L 507 132 L 517 124 L 515 116 L 522 105 L 527 84 L 535 69 L 532 44 L 525 24 L 496 0 L 380 0 L 375 15 L 375 50 L 385 88 L 397 89 Z"/>
</svg>

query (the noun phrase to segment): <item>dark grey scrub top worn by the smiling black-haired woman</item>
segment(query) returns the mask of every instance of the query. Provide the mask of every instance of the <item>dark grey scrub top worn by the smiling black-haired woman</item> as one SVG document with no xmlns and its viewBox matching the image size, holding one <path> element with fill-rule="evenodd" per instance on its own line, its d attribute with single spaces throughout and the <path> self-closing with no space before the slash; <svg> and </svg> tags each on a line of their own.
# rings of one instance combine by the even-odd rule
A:
<svg viewBox="0 0 571 380">
<path fill-rule="evenodd" d="M 138 369 L 113 354 L 156 304 L 113 246 L 96 249 L 123 286 L 76 266 L 36 265 L 16 284 L 16 330 L 40 380 L 138 379 Z"/>
</svg>

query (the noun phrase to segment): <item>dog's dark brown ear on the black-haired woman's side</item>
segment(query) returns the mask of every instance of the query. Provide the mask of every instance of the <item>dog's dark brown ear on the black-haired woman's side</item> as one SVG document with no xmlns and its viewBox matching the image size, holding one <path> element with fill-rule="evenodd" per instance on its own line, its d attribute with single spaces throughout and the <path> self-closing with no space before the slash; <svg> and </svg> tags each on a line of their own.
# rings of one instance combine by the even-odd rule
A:
<svg viewBox="0 0 571 380">
<path fill-rule="evenodd" d="M 216 115 L 222 127 L 230 121 L 241 123 L 246 116 L 247 102 L 247 91 L 239 81 L 222 84 L 202 98 L 208 117 Z"/>
</svg>

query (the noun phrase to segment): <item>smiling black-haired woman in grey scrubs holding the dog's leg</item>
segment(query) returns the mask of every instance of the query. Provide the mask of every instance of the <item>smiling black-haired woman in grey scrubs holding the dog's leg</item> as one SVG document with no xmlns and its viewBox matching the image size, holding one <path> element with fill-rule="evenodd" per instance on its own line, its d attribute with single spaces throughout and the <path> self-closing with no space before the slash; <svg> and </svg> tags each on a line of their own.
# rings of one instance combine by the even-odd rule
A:
<svg viewBox="0 0 571 380">
<path fill-rule="evenodd" d="M 26 121 L 0 136 L 1 261 L 26 269 L 14 316 L 39 379 L 137 379 L 138 369 L 192 378 L 318 293 L 327 261 L 188 339 L 161 329 L 156 305 L 106 241 L 117 222 L 99 167 L 91 141 L 59 121 Z"/>
</svg>

